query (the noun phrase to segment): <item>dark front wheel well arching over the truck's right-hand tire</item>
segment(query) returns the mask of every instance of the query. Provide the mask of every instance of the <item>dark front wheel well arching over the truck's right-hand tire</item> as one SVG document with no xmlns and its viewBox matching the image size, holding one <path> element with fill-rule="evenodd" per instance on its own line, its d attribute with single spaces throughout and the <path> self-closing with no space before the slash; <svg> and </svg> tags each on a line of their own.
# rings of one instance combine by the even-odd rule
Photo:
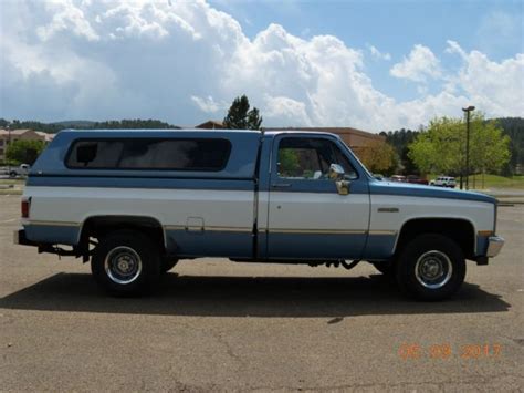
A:
<svg viewBox="0 0 524 393">
<path fill-rule="evenodd" d="M 459 218 L 419 218 L 407 221 L 397 241 L 396 252 L 399 252 L 409 240 L 422 234 L 440 234 L 457 241 L 467 259 L 475 255 L 475 237 L 473 225 Z"/>
</svg>

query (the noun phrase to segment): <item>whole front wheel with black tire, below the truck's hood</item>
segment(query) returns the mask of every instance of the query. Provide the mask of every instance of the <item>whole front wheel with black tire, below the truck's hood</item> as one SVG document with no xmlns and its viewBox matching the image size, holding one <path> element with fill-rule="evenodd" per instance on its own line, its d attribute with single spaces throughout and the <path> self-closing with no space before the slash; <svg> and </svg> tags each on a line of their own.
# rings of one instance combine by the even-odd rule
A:
<svg viewBox="0 0 524 393">
<path fill-rule="evenodd" d="M 465 277 L 462 249 L 450 238 L 428 234 L 412 239 L 400 251 L 397 283 L 406 294 L 436 301 L 454 294 Z"/>
</svg>

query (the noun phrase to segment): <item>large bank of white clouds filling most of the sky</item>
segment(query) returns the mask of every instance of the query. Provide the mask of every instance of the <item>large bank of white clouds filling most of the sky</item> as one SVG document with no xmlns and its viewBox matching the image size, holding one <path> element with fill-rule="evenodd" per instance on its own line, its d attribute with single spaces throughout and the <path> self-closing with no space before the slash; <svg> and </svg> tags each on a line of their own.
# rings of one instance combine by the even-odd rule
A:
<svg viewBox="0 0 524 393">
<path fill-rule="evenodd" d="M 417 127 L 470 103 L 490 116 L 524 114 L 523 54 L 494 62 L 449 42 L 462 64 L 449 72 L 416 45 L 391 74 L 417 82 L 420 97 L 400 102 L 374 86 L 363 51 L 336 37 L 301 38 L 270 24 L 249 39 L 203 0 L 7 2 L 0 18 L 0 116 L 8 118 L 198 124 L 226 115 L 241 94 L 268 126 Z M 436 93 L 429 79 L 440 84 Z"/>
</svg>

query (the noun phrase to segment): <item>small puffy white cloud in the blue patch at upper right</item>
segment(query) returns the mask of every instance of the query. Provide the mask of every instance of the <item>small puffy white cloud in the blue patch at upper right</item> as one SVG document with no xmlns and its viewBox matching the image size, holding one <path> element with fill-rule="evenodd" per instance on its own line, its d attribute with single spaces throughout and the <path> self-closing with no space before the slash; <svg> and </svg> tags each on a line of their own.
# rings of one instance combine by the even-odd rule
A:
<svg viewBox="0 0 524 393">
<path fill-rule="evenodd" d="M 391 68 L 390 74 L 413 82 L 426 82 L 428 77 L 441 76 L 440 61 L 429 48 L 415 45 L 408 58 Z"/>
</svg>

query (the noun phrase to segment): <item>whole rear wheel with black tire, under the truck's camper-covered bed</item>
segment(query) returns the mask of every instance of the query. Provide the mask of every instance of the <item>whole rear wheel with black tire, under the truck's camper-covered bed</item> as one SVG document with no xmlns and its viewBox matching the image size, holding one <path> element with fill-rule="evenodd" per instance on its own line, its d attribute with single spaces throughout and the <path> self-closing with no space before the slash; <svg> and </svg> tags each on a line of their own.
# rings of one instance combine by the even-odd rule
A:
<svg viewBox="0 0 524 393">
<path fill-rule="evenodd" d="M 150 292 L 159 282 L 160 269 L 158 247 L 148 236 L 134 230 L 106 235 L 91 260 L 96 283 L 118 297 Z"/>
</svg>

